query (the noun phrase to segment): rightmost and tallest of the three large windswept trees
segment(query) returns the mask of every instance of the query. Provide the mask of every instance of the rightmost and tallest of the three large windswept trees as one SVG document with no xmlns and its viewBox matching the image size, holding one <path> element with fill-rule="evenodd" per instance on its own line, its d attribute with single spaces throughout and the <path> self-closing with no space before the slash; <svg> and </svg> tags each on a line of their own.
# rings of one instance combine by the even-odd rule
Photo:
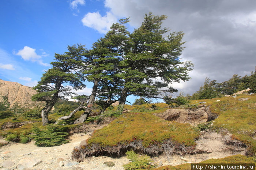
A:
<svg viewBox="0 0 256 170">
<path fill-rule="evenodd" d="M 128 49 L 121 55 L 118 64 L 120 71 L 116 76 L 120 79 L 118 111 L 123 111 L 129 95 L 146 98 L 163 98 L 161 95 L 177 91 L 172 82 L 186 81 L 188 72 L 192 70 L 191 62 L 181 62 L 179 56 L 184 47 L 183 33 L 169 32 L 161 28 L 166 16 L 146 14 L 142 25 L 128 33 Z"/>
</svg>

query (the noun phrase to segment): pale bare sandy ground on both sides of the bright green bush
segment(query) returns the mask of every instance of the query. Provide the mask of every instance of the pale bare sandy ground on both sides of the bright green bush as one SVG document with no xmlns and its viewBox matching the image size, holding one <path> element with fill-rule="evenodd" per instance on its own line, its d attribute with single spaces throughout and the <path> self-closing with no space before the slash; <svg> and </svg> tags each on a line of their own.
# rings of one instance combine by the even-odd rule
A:
<svg viewBox="0 0 256 170">
<path fill-rule="evenodd" d="M 24 169 L 18 165 L 21 159 L 38 159 L 38 165 L 30 169 L 37 170 L 123 170 L 124 164 L 129 160 L 125 157 L 111 158 L 105 156 L 86 158 L 84 162 L 73 162 L 71 152 L 80 142 L 89 138 L 91 134 L 74 134 L 70 142 L 61 146 L 37 147 L 34 142 L 27 144 L 12 143 L 0 148 L 0 167 L 5 170 Z M 194 155 L 161 155 L 153 160 L 160 165 L 179 165 L 182 163 L 197 163 L 210 158 L 223 158 L 234 154 L 245 154 L 245 149 L 240 148 L 234 152 L 234 147 L 227 146 L 223 137 L 217 133 L 203 134 L 197 141 L 197 149 L 205 150 L 206 153 Z M 236 148 L 235 148 L 236 149 Z M 104 162 L 112 161 L 115 166 L 108 167 Z"/>
</svg>

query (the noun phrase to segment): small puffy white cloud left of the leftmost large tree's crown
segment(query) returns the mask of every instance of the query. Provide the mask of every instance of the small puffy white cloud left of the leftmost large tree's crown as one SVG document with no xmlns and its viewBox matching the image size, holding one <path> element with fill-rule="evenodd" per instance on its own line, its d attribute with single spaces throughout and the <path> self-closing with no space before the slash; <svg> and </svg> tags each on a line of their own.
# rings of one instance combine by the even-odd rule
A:
<svg viewBox="0 0 256 170">
<path fill-rule="evenodd" d="M 25 46 L 22 50 L 19 50 L 16 55 L 20 55 L 26 61 L 33 61 L 41 58 L 41 56 L 35 53 L 35 48 L 30 48 L 28 46 Z"/>
</svg>

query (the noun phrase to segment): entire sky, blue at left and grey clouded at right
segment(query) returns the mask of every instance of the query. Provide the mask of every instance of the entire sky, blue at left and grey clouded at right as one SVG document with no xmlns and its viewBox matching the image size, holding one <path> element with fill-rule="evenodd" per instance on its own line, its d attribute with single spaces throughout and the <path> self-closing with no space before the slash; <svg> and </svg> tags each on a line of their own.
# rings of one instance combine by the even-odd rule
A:
<svg viewBox="0 0 256 170">
<path fill-rule="evenodd" d="M 255 7 L 255 0 L 1 0 L 0 79 L 33 87 L 55 53 L 73 44 L 90 49 L 112 23 L 130 17 L 132 31 L 152 12 L 168 17 L 164 27 L 185 33 L 181 60 L 194 69 L 191 80 L 172 86 L 192 95 L 206 77 L 224 82 L 255 71 Z M 86 85 L 78 94 L 90 95 L 92 83 Z"/>
</svg>

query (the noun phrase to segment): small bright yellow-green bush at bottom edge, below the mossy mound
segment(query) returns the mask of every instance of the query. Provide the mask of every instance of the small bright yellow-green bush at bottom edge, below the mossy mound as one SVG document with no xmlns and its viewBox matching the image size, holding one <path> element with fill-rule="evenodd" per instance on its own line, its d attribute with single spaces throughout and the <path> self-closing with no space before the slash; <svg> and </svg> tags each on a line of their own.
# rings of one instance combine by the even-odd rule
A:
<svg viewBox="0 0 256 170">
<path fill-rule="evenodd" d="M 154 168 L 154 165 L 151 163 L 151 158 L 147 155 L 136 154 L 133 150 L 127 151 L 125 154 L 127 158 L 132 161 L 126 165 L 123 165 L 125 170 Z"/>
</svg>

